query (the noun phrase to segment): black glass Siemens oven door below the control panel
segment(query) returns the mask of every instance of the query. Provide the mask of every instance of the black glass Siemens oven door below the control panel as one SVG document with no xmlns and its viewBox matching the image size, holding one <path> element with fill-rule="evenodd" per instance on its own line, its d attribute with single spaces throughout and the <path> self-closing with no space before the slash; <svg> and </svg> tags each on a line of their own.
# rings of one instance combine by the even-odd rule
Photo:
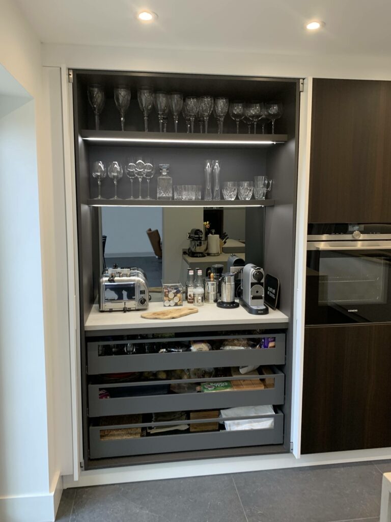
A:
<svg viewBox="0 0 391 522">
<path fill-rule="evenodd" d="M 390 252 L 308 251 L 306 324 L 391 321 Z"/>
</svg>

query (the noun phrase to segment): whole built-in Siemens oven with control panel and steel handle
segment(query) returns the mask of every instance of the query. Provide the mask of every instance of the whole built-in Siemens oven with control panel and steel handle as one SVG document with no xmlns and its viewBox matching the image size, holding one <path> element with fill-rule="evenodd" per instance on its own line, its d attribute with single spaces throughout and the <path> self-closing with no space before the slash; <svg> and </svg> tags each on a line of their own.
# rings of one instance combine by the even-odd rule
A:
<svg viewBox="0 0 391 522">
<path fill-rule="evenodd" d="M 306 325 L 391 322 L 391 225 L 309 225 Z"/>
</svg>

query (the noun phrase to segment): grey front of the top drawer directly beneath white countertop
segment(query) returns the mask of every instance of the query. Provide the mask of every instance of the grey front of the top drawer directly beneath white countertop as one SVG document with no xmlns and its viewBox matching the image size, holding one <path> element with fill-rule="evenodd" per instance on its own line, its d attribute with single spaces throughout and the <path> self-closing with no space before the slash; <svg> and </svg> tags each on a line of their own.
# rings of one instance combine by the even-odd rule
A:
<svg viewBox="0 0 391 522">
<path fill-rule="evenodd" d="M 256 336 L 256 339 L 261 339 L 262 337 L 274 337 L 275 348 L 253 350 L 211 350 L 207 352 L 189 351 L 180 353 L 99 355 L 100 347 L 104 347 L 105 345 L 118 345 L 119 347 L 125 347 L 127 341 L 89 342 L 87 343 L 88 373 L 89 375 L 96 375 L 100 373 L 180 370 L 182 368 L 284 364 L 285 334 Z M 174 339 L 171 339 L 167 342 L 173 342 L 173 340 Z M 153 342 L 153 340 L 149 340 L 148 342 L 145 341 L 145 344 L 152 344 Z"/>
</svg>

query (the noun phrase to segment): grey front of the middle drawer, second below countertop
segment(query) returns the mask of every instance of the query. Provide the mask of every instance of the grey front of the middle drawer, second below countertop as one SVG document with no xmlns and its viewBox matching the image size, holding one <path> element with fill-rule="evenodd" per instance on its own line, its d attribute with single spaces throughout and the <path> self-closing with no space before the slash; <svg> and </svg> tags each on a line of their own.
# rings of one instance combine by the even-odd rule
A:
<svg viewBox="0 0 391 522">
<path fill-rule="evenodd" d="M 99 390 L 110 392 L 115 387 L 125 388 L 131 394 L 132 386 L 129 384 L 105 385 L 93 384 L 89 386 L 89 417 L 100 417 L 108 415 L 126 415 L 130 413 L 153 413 L 160 411 L 175 410 L 201 410 L 212 408 L 233 408 L 235 406 L 257 406 L 257 405 L 280 405 L 284 404 L 284 382 L 285 375 L 273 368 L 273 374 L 260 378 L 274 378 L 273 388 L 257 390 L 229 390 L 226 392 L 201 392 L 166 395 L 133 395 L 119 398 L 99 398 Z M 263 380 L 262 379 L 262 380 Z M 229 381 L 229 377 L 225 379 Z M 213 379 L 204 379 L 210 382 Z M 182 381 L 186 383 L 186 379 Z M 201 381 L 202 382 L 202 381 Z M 157 384 L 157 386 L 162 386 Z M 169 385 L 167 385 L 167 388 Z"/>
</svg>

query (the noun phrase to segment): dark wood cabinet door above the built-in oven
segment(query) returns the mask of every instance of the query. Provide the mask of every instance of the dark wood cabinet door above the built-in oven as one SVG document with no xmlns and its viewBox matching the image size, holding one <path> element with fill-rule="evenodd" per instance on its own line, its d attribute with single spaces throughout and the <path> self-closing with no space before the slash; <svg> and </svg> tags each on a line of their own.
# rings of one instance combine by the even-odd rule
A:
<svg viewBox="0 0 391 522">
<path fill-rule="evenodd" d="M 310 223 L 391 221 L 391 82 L 313 80 Z"/>
</svg>

